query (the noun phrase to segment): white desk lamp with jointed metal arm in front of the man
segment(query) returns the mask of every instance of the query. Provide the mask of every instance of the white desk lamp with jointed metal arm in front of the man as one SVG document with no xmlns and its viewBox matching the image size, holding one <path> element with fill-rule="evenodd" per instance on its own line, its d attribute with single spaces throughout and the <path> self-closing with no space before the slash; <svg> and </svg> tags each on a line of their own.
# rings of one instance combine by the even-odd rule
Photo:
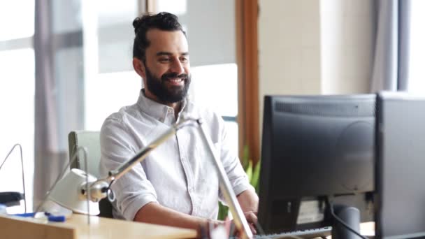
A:
<svg viewBox="0 0 425 239">
<path fill-rule="evenodd" d="M 222 162 L 220 161 L 219 156 L 215 150 L 213 150 L 214 146 L 212 141 L 210 140 L 210 137 L 208 137 L 206 131 L 203 129 L 202 124 L 203 122 L 201 119 L 183 116 L 176 124 L 173 124 L 173 126 L 171 126 L 168 131 L 159 136 L 156 140 L 150 143 L 150 145 L 144 147 L 134 157 L 129 159 L 129 161 L 125 162 L 122 164 L 122 166 L 115 169 L 114 171 L 109 171 L 106 178 L 96 180 L 96 178 L 94 178 L 92 175 L 86 175 L 82 171 L 75 171 L 75 169 L 73 169 L 71 170 L 71 173 L 62 179 L 65 182 L 58 182 L 59 187 L 57 188 L 59 189 L 60 193 L 53 191 L 52 195 L 56 196 L 55 201 L 61 205 L 65 205 L 65 203 L 62 201 L 68 201 L 68 205 L 76 205 L 78 203 L 72 201 L 81 202 L 84 201 L 85 198 L 88 198 L 87 200 L 94 203 L 97 203 L 102 198 L 106 197 L 109 199 L 109 201 L 114 201 L 115 196 L 113 191 L 110 189 L 110 186 L 115 182 L 115 180 L 121 178 L 122 175 L 130 171 L 133 166 L 143 161 L 143 159 L 147 157 L 147 154 L 161 145 L 161 143 L 164 143 L 166 140 L 168 140 L 168 138 L 174 136 L 179 129 L 182 129 L 185 126 L 196 126 L 201 133 L 201 137 L 203 138 L 204 143 L 206 143 L 208 146 L 209 153 L 214 159 L 213 165 L 215 166 L 219 176 L 219 188 L 223 192 L 226 203 L 229 205 L 229 209 L 233 215 L 233 221 L 236 225 L 236 228 L 242 232 L 242 238 L 252 238 L 250 226 L 248 225 L 236 195 L 231 188 L 229 178 L 227 178 L 227 175 L 222 166 Z M 86 178 L 86 180 L 84 180 L 84 178 Z M 67 193 L 70 195 L 66 195 Z M 78 211 L 75 209 L 73 210 L 75 212 L 88 214 L 87 210 L 84 210 L 81 207 L 78 207 Z"/>
</svg>

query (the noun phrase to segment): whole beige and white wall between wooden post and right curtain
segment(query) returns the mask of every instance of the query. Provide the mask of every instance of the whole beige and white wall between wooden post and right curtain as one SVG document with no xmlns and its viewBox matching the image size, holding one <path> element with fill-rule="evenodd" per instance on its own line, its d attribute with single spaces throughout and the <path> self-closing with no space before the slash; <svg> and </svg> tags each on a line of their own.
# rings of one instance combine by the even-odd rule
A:
<svg viewBox="0 0 425 239">
<path fill-rule="evenodd" d="M 260 130 L 266 94 L 367 93 L 373 0 L 259 0 Z"/>
</svg>

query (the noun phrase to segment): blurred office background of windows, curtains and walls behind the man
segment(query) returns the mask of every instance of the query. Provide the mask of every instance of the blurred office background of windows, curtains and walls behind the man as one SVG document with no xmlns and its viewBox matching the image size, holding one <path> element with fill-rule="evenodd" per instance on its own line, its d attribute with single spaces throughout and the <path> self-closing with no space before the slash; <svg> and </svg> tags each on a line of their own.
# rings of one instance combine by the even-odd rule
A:
<svg viewBox="0 0 425 239">
<path fill-rule="evenodd" d="M 189 96 L 222 115 L 234 150 L 248 145 L 257 162 L 266 94 L 425 95 L 424 10 L 422 0 L 1 1 L 1 160 L 22 145 L 32 208 L 69 161 L 68 133 L 99 131 L 136 102 L 131 22 L 146 11 L 178 15 Z M 18 151 L 0 182 L 22 191 Z"/>
</svg>

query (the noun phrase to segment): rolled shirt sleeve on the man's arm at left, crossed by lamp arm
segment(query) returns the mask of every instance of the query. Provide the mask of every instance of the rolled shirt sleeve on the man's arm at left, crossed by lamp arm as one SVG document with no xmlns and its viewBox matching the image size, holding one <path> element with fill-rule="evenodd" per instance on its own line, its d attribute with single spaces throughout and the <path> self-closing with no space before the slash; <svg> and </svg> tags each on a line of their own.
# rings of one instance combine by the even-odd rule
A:
<svg viewBox="0 0 425 239">
<path fill-rule="evenodd" d="M 120 118 L 105 120 L 101 128 L 100 171 L 103 174 L 115 170 L 124 162 L 134 157 L 137 150 L 127 126 Z M 116 180 L 112 185 L 115 193 L 115 209 L 127 220 L 134 220 L 136 212 L 150 202 L 157 202 L 157 193 L 146 178 L 141 164 L 136 164 L 130 171 Z"/>
</svg>

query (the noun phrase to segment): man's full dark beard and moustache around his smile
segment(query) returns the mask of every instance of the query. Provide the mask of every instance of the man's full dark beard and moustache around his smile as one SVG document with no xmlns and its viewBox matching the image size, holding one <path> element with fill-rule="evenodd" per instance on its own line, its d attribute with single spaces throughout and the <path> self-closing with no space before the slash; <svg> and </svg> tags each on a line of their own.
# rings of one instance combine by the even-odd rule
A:
<svg viewBox="0 0 425 239">
<path fill-rule="evenodd" d="M 161 78 L 154 76 L 147 67 L 146 70 L 146 87 L 152 94 L 157 96 L 159 101 L 163 103 L 176 103 L 180 102 L 187 96 L 191 75 L 177 73 L 166 73 L 161 75 Z M 167 80 L 171 78 L 181 78 L 184 82 L 182 86 L 167 85 Z"/>
</svg>

